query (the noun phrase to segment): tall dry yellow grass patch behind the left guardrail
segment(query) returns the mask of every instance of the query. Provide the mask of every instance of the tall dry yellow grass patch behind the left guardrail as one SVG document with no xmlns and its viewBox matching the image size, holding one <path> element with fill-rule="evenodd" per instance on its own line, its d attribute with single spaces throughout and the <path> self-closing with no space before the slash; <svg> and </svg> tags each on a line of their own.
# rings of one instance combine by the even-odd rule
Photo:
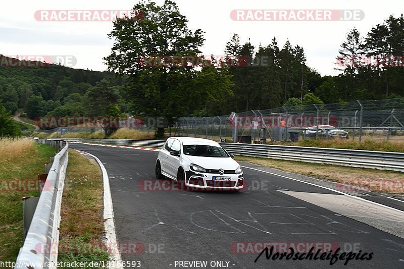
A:
<svg viewBox="0 0 404 269">
<path fill-rule="evenodd" d="M 26 138 L 0 138 L 0 163 L 14 162 L 35 152 L 35 141 Z"/>
</svg>

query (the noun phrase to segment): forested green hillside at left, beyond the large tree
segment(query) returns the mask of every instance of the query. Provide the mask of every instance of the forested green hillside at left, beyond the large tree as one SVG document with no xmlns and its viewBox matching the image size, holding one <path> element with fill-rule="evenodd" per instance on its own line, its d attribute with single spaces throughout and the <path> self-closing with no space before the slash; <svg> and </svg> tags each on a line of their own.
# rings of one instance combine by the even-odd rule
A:
<svg viewBox="0 0 404 269">
<path fill-rule="evenodd" d="M 0 100 L 12 114 L 21 109 L 31 118 L 45 116 L 66 103 L 72 94 L 82 96 L 102 79 L 114 81 L 114 73 L 19 61 L 0 55 Z M 120 84 L 119 80 L 114 82 Z M 39 104 L 38 110 L 27 111 L 29 102 Z"/>
</svg>

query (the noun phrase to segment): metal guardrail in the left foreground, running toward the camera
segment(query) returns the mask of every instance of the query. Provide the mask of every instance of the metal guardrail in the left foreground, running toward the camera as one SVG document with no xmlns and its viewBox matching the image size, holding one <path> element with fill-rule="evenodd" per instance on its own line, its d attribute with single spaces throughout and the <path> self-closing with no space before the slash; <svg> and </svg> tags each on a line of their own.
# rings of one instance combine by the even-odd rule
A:
<svg viewBox="0 0 404 269">
<path fill-rule="evenodd" d="M 16 260 L 16 269 L 55 268 L 58 259 L 60 209 L 68 163 L 69 143 L 64 140 L 36 140 L 52 145 L 59 153 L 54 157 L 46 177 L 24 245 Z M 46 251 L 52 250 L 52 251 Z"/>
</svg>

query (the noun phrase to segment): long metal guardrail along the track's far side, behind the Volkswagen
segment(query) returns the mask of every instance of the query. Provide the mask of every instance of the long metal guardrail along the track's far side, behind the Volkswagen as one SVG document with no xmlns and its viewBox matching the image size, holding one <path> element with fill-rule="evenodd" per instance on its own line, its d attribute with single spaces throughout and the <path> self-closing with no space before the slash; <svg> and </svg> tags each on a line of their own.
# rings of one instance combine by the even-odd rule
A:
<svg viewBox="0 0 404 269">
<path fill-rule="evenodd" d="M 126 146 L 163 147 L 164 140 L 68 139 L 68 141 L 106 143 Z M 297 147 L 262 144 L 220 143 L 235 155 L 300 162 L 374 168 L 404 172 L 404 153 L 339 148 Z"/>
</svg>

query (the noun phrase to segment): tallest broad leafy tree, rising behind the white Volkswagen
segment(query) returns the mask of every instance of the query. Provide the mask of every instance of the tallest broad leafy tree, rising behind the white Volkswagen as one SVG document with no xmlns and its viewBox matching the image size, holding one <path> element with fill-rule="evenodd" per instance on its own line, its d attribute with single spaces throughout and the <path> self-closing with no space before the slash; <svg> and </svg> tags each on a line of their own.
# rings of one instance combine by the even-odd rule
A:
<svg viewBox="0 0 404 269">
<path fill-rule="evenodd" d="M 134 112 L 142 116 L 165 116 L 169 124 L 173 124 L 175 117 L 187 116 L 194 106 L 195 100 L 188 96 L 204 92 L 204 88 L 193 82 L 200 73 L 188 64 L 148 67 L 143 60 L 156 56 L 169 59 L 196 56 L 205 41 L 204 32 L 189 30 L 188 21 L 180 14 L 177 4 L 169 0 L 162 6 L 144 1 L 133 10 L 141 12 L 142 19 L 124 18 L 114 22 L 109 34 L 114 45 L 111 55 L 104 59 L 110 70 L 128 76 L 126 90 Z M 220 70 L 217 72 L 222 74 Z M 216 91 L 227 91 L 228 88 L 223 88 L 226 85 L 228 83 L 217 85 Z M 164 136 L 164 128 L 158 128 L 156 135 Z"/>
</svg>

